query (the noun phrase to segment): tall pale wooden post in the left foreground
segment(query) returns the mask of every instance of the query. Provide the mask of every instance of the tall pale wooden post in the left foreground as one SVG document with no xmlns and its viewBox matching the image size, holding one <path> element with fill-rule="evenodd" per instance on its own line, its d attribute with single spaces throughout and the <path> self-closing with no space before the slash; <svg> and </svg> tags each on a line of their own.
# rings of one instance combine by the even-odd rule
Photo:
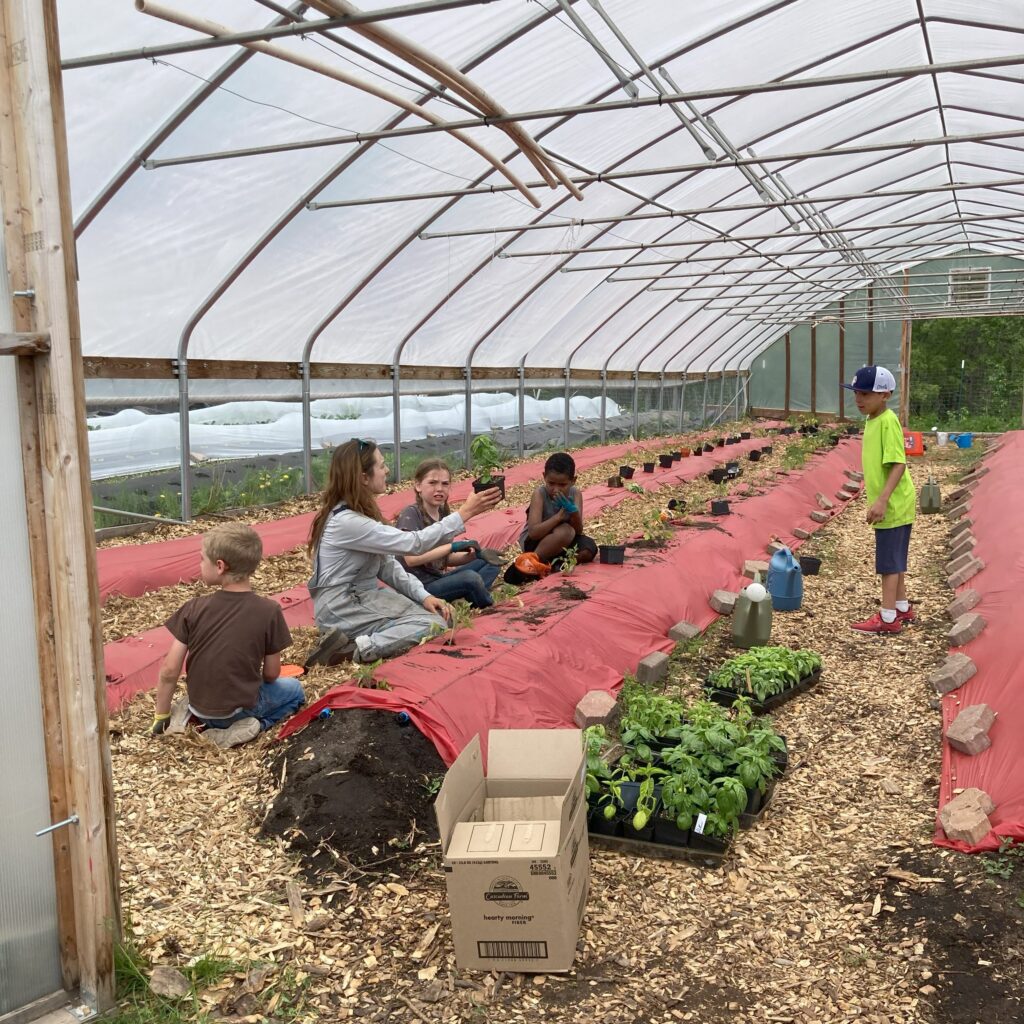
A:
<svg viewBox="0 0 1024 1024">
<path fill-rule="evenodd" d="M 23 436 L 23 446 L 38 443 L 40 471 L 30 467 L 26 480 L 31 528 L 38 539 L 41 517 L 48 570 L 35 581 L 48 598 L 48 607 L 37 598 L 41 646 L 52 637 L 40 651 L 43 703 L 60 722 L 65 806 L 79 818 L 62 829 L 74 881 L 78 987 L 83 1002 L 102 1011 L 114 1001 L 120 908 L 56 3 L 6 0 L 0 10 L 0 96 L 6 97 L 0 102 L 9 103 L 10 118 L 0 135 L 7 146 L 0 177 L 5 198 L 13 191 L 5 212 L 14 221 L 5 238 L 8 259 L 35 293 L 31 305 L 15 303 L 22 304 L 16 326 L 47 331 L 51 346 L 33 359 L 36 404 L 26 415 L 38 431 L 30 423 Z M 42 572 L 38 548 L 33 559 Z M 50 749 L 54 741 L 50 736 Z M 51 776 L 54 783 L 58 790 Z M 57 885 L 59 892 L 59 878 Z"/>
</svg>

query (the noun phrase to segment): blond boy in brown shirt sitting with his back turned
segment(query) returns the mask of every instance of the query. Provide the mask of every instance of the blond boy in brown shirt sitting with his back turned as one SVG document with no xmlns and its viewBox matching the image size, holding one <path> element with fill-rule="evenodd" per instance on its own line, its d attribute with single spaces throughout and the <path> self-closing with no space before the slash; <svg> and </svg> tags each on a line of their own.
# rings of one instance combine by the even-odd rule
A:
<svg viewBox="0 0 1024 1024">
<path fill-rule="evenodd" d="M 200 734 L 217 746 L 254 739 L 305 703 L 299 681 L 281 678 L 281 651 L 292 642 L 281 605 L 253 593 L 249 580 L 262 557 L 259 535 L 242 523 L 215 526 L 203 538 L 200 574 L 219 589 L 186 601 L 167 620 L 174 642 L 160 669 L 151 735 L 171 722 L 182 666 L 182 710 L 201 721 Z"/>
</svg>

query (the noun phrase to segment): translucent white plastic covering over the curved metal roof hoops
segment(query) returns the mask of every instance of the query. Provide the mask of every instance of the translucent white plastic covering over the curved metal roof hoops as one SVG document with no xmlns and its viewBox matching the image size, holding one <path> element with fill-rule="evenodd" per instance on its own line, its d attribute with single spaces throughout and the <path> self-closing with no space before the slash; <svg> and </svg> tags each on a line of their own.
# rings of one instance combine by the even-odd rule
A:
<svg viewBox="0 0 1024 1024">
<path fill-rule="evenodd" d="M 238 33 L 333 2 L 168 6 Z M 163 52 L 208 37 L 129 0 L 60 0 L 86 356 L 742 370 L 801 296 L 1021 249 L 1019 0 L 410 7 L 378 24 L 518 115 L 582 201 L 498 127 L 466 135 L 541 209 L 385 99 L 237 44 Z M 481 120 L 352 27 L 272 45 Z"/>
</svg>

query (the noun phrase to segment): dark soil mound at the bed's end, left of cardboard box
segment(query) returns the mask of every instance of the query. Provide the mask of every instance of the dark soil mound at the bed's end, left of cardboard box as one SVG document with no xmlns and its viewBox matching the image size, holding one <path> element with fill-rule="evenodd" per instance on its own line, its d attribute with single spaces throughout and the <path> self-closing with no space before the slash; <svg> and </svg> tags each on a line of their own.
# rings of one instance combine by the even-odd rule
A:
<svg viewBox="0 0 1024 1024">
<path fill-rule="evenodd" d="M 263 831 L 287 839 L 312 873 L 338 858 L 377 864 L 437 839 L 426 783 L 444 764 L 419 729 L 388 712 L 336 711 L 310 722 L 271 771 L 275 779 L 284 771 L 285 784 Z"/>
</svg>

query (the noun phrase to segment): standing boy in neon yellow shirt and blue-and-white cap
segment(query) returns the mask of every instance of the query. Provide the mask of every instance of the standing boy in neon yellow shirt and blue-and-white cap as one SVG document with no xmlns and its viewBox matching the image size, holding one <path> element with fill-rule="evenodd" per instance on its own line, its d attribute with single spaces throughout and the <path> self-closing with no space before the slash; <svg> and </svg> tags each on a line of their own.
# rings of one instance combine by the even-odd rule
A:
<svg viewBox="0 0 1024 1024">
<path fill-rule="evenodd" d="M 849 384 L 866 417 L 861 464 L 867 493 L 866 519 L 874 527 L 874 571 L 882 577 L 882 609 L 851 628 L 860 633 L 899 633 L 913 622 L 906 599 L 906 560 L 918 495 L 906 468 L 903 428 L 887 402 L 896 379 L 885 367 L 861 367 Z"/>
</svg>

